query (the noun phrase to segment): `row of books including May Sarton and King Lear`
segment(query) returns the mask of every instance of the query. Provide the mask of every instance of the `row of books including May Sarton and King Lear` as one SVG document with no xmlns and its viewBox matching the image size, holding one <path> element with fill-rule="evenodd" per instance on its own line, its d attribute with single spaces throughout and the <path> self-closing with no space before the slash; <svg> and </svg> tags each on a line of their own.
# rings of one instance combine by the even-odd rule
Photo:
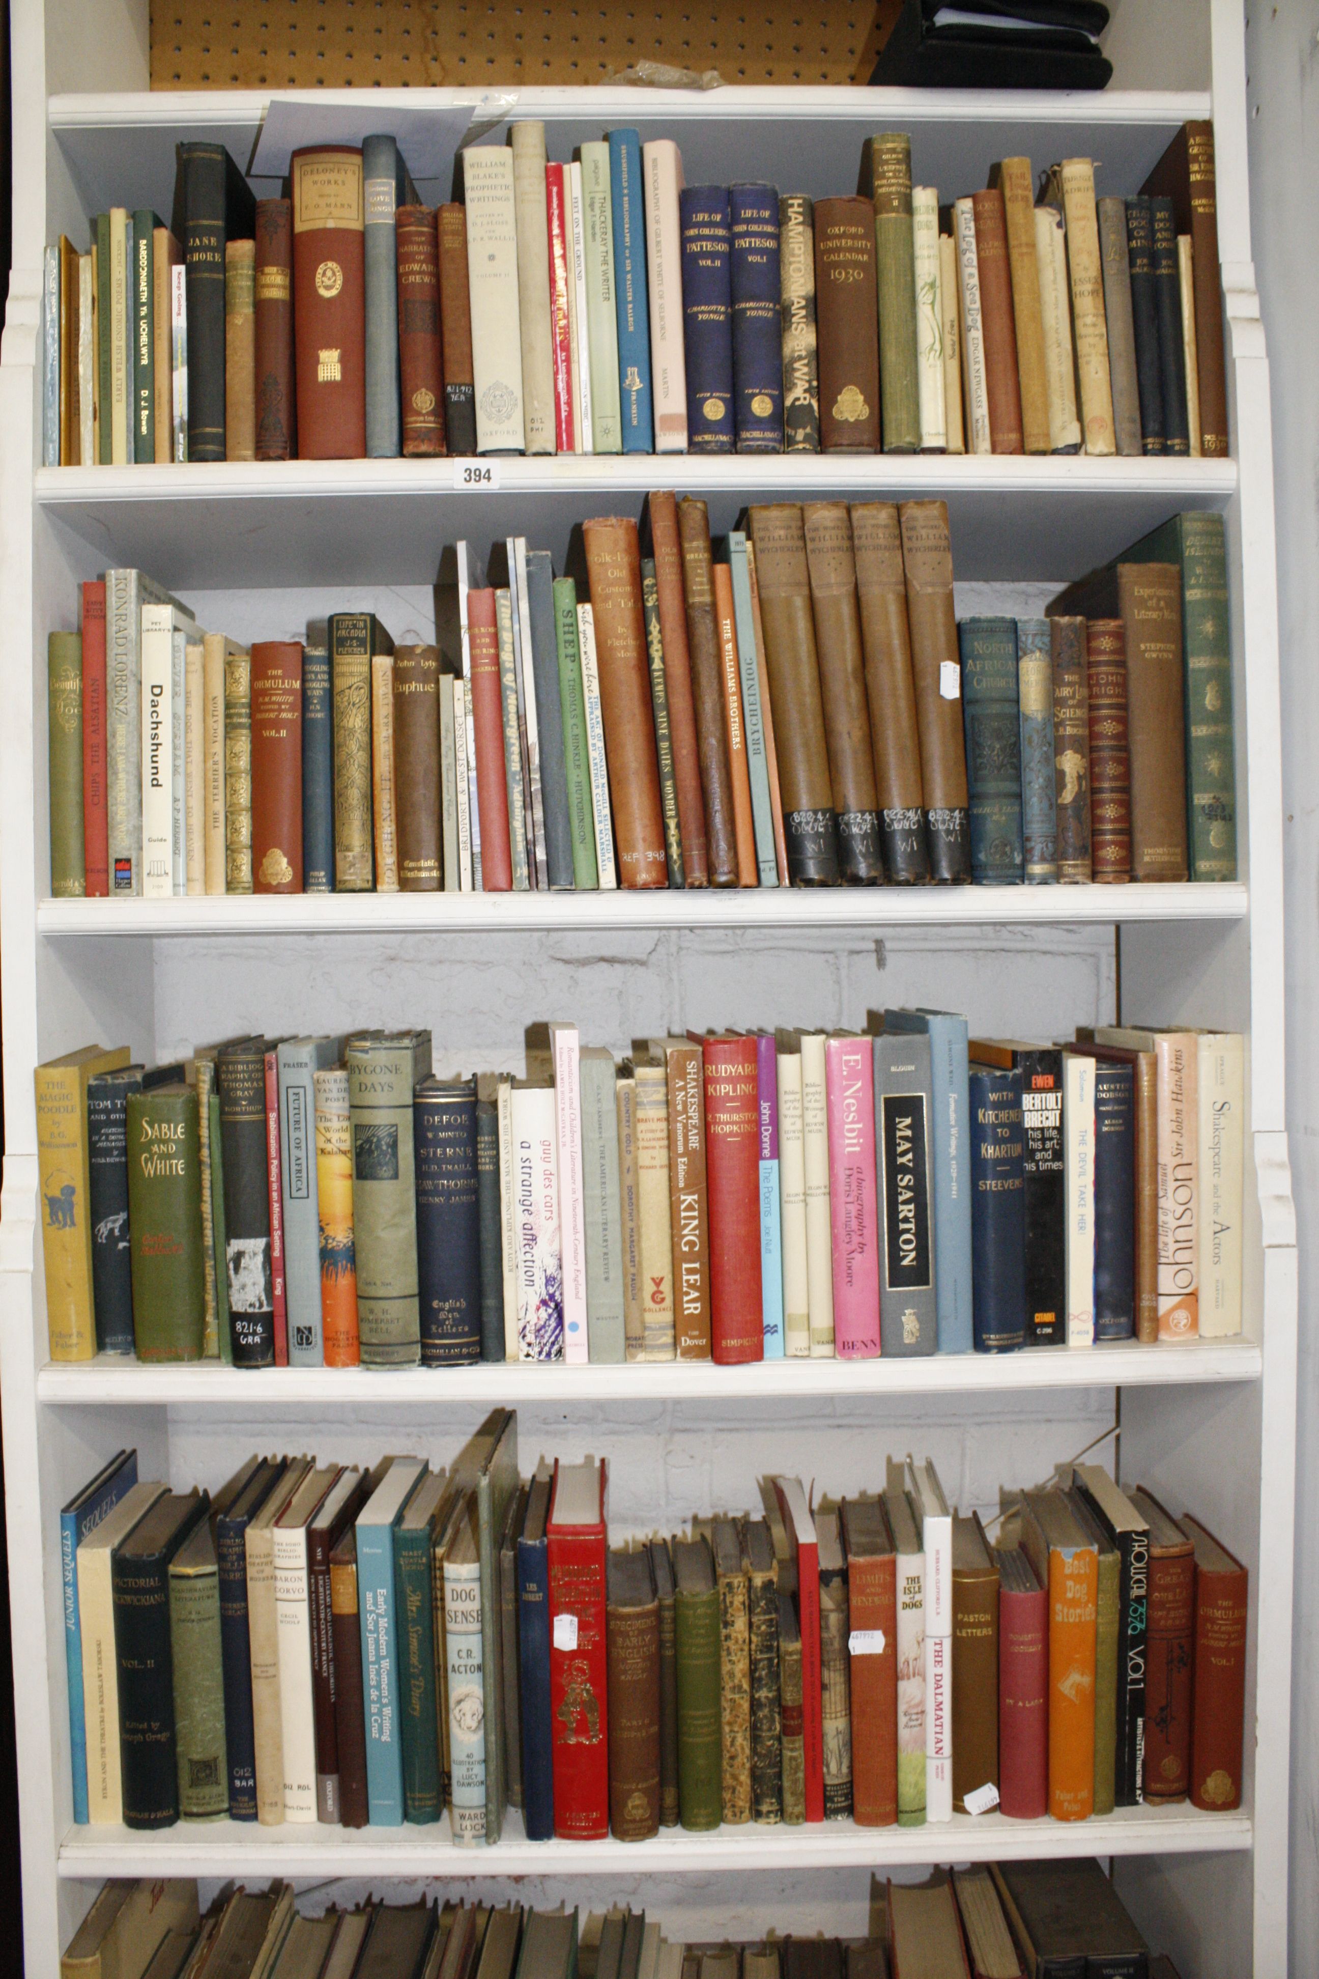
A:
<svg viewBox="0 0 1319 1979">
<path fill-rule="evenodd" d="M 635 1039 L 532 1025 L 38 1067 L 53 1360 L 239 1367 L 1003 1354 L 1242 1330 L 1240 1033 Z M 1005 1375 L 1005 1379 L 1011 1379 Z"/>
</svg>

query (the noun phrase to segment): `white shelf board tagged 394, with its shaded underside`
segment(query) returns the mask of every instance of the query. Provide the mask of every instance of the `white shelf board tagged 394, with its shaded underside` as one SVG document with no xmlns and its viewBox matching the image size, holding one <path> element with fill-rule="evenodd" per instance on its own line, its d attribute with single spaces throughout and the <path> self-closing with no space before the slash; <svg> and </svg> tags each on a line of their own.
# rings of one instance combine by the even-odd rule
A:
<svg viewBox="0 0 1319 1979">
<path fill-rule="evenodd" d="M 492 465 L 498 489 L 455 489 L 443 461 L 216 461 L 42 467 L 38 505 L 95 550 L 174 590 L 431 584 L 439 552 L 526 534 L 568 548 L 573 522 L 637 515 L 649 489 L 710 503 L 716 532 L 747 501 L 941 497 L 959 582 L 1066 582 L 1179 509 L 1222 509 L 1236 461 L 1084 455 L 779 453 L 546 455 Z M 1011 497 L 1011 499 L 1005 499 Z M 89 564 L 91 568 L 91 564 Z"/>
</svg>

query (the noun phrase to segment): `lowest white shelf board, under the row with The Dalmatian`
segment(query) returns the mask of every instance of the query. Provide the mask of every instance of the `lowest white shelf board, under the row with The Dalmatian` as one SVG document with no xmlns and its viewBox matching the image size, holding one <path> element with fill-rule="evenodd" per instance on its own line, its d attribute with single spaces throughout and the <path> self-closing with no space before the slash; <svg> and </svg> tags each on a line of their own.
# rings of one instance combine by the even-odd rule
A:
<svg viewBox="0 0 1319 1979">
<path fill-rule="evenodd" d="M 180 1823 L 152 1835 L 69 1829 L 61 1876 L 662 1876 L 920 1862 L 1005 1862 L 1038 1856 L 1208 1854 L 1250 1848 L 1248 1815 L 1123 1807 L 1094 1821 L 1009 1821 L 953 1815 L 920 1829 L 827 1821 L 793 1829 L 662 1829 L 649 1842 L 528 1842 L 510 1811 L 494 1848 L 457 1848 L 449 1823 L 338 1829 L 247 1821 Z"/>
</svg>

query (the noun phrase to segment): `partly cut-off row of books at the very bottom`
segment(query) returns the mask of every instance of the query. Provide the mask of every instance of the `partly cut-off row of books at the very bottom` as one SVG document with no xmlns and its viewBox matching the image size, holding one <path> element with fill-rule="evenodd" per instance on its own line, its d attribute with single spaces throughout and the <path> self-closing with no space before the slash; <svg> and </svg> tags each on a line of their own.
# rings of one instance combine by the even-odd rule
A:
<svg viewBox="0 0 1319 1979">
<path fill-rule="evenodd" d="M 1054 1961 L 1105 1979 L 1177 1979 L 1151 1957 L 1098 1862 L 991 1862 L 925 1882 L 870 1880 L 868 1937 L 769 1932 L 682 1943 L 645 1910 L 544 1912 L 463 1902 L 299 1912 L 291 1884 L 223 1886 L 206 1914 L 190 1880 L 105 1884 L 61 1979 L 1024 1979 Z"/>
</svg>

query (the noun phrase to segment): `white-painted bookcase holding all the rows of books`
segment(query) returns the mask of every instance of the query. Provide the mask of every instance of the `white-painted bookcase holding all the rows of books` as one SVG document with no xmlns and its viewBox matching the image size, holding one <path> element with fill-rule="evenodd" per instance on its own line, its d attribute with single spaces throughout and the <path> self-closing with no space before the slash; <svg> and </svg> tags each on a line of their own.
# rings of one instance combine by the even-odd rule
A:
<svg viewBox="0 0 1319 1979">
<path fill-rule="evenodd" d="M 773 178 L 846 192 L 870 131 L 912 131 L 916 176 L 985 184 L 1005 152 L 1036 166 L 1099 160 L 1131 192 L 1188 117 L 1214 117 L 1228 311 L 1230 461 L 1066 459 L 572 459 L 500 461 L 498 489 L 459 493 L 453 463 L 42 469 L 42 247 L 109 204 L 168 214 L 174 142 L 221 137 L 247 162 L 267 103 L 243 93 L 148 95 L 146 0 L 12 0 L 14 277 L 0 348 L 0 612 L 10 637 L 0 716 L 0 952 L 6 1164 L 0 1223 L 0 1387 L 8 1478 L 30 1979 L 51 1979 L 103 1876 L 484 1878 L 524 1900 L 633 1900 L 676 1935 L 864 1930 L 868 1872 L 1098 1854 L 1185 1979 L 1285 1969 L 1295 1217 L 1283 1132 L 1283 966 L 1277 629 L 1268 358 L 1250 261 L 1240 0 L 1117 10 L 1101 95 L 908 95 L 864 89 L 312 93 L 330 137 L 401 129 L 405 144 L 496 133 L 512 111 L 548 123 L 550 154 L 609 125 L 680 142 L 688 180 Z M 1192 81 L 1198 89 L 1187 89 Z M 1153 83 L 1155 89 L 1131 89 Z M 1167 87 L 1165 87 L 1167 85 Z M 71 93 L 81 91 L 81 93 Z M 93 93 L 95 91 L 95 93 Z M 305 113 L 307 115 L 307 113 Z M 409 139 L 407 133 L 419 133 Z M 439 137 L 435 135 L 439 133 Z M 451 142 L 451 139 L 449 139 Z M 411 154 L 411 152 L 409 152 Z M 447 174 L 423 186 L 445 198 Z M 1028 612 L 1062 582 L 1185 507 L 1228 518 L 1240 871 L 1232 887 L 963 889 L 831 895 L 585 895 L 115 902 L 47 898 L 45 637 L 77 625 L 77 584 L 142 564 L 198 619 L 237 637 L 303 633 L 378 610 L 396 637 L 431 625 L 441 544 L 514 524 L 552 550 L 589 513 L 635 515 L 651 485 L 710 497 L 728 526 L 751 495 L 943 495 L 959 612 Z M 979 1031 L 1068 1035 L 1080 1021 L 1240 1027 L 1250 1037 L 1246 1332 L 1188 1348 L 1034 1352 L 1009 1360 L 813 1362 L 769 1367 L 469 1367 L 451 1373 L 271 1371 L 216 1366 L 45 1366 L 32 1067 L 91 1037 L 148 1061 L 251 1027 L 429 1023 L 441 1069 L 512 1067 L 522 1027 L 573 1015 L 583 1039 L 706 1023 L 858 1023 L 866 1007 L 965 1009 Z M 645 1844 L 498 1850 L 447 1829 L 180 1825 L 160 1835 L 71 1829 L 59 1575 L 61 1502 L 117 1447 L 144 1474 L 218 1484 L 249 1449 L 445 1461 L 494 1401 L 520 1411 L 524 1470 L 542 1451 L 611 1461 L 611 1526 L 672 1530 L 755 1502 L 787 1468 L 856 1490 L 884 1453 L 929 1451 L 963 1510 L 997 1508 L 1121 1429 L 1119 1474 L 1194 1508 L 1252 1573 L 1246 1797 L 1064 1827 L 959 1817 L 951 1827 L 666 1831 Z M 1101 1445 L 1111 1457 L 1113 1445 Z"/>
</svg>

